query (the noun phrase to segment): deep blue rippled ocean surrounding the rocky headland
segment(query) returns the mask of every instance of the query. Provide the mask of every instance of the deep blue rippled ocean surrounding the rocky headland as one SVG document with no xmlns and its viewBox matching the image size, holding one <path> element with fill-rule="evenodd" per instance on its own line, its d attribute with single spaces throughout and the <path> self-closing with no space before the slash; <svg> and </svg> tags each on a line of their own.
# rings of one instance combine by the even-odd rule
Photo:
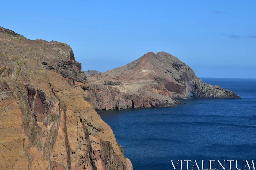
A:
<svg viewBox="0 0 256 170">
<path fill-rule="evenodd" d="M 134 170 L 173 170 L 170 160 L 256 160 L 256 79 L 201 79 L 243 99 L 189 98 L 175 108 L 98 111 Z"/>
</svg>

